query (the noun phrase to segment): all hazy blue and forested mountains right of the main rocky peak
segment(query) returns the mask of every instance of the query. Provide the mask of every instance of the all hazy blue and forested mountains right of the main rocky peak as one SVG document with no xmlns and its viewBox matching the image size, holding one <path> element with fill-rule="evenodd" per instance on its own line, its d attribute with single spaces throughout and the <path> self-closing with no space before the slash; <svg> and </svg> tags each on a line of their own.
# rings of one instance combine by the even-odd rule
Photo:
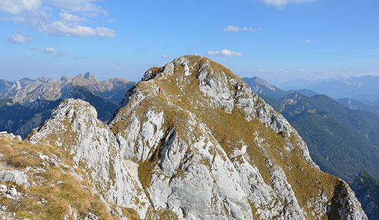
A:
<svg viewBox="0 0 379 220">
<path fill-rule="evenodd" d="M 298 130 L 321 170 L 350 182 L 369 219 L 378 219 L 379 106 L 307 89 L 282 97 L 284 90 L 267 81 L 247 82 Z"/>
</svg>

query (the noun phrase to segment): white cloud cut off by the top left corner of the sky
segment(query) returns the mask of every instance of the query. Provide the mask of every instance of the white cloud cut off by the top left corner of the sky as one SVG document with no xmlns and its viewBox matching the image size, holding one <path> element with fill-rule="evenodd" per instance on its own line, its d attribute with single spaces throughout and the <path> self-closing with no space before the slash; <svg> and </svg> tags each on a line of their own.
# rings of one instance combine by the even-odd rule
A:
<svg viewBox="0 0 379 220">
<path fill-rule="evenodd" d="M 32 11 L 40 8 L 41 0 L 1 0 L 0 11 L 11 14 L 19 14 L 23 11 Z"/>
</svg>

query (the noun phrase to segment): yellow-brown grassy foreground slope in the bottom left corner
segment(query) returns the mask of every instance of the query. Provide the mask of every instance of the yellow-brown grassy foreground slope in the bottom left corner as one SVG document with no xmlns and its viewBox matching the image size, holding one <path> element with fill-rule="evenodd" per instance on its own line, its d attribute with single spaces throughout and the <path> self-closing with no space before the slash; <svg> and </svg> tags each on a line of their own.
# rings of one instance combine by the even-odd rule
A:
<svg viewBox="0 0 379 220">
<path fill-rule="evenodd" d="M 107 207 L 97 195 L 82 186 L 90 186 L 86 179 L 79 181 L 70 174 L 69 169 L 46 163 L 39 158 L 40 152 L 49 157 L 54 153 L 63 163 L 72 165 L 52 146 L 35 146 L 0 137 L 0 153 L 4 154 L 0 159 L 1 163 L 5 163 L 10 170 L 25 171 L 26 167 L 32 167 L 27 172 L 32 186 L 26 189 L 23 186 L 16 187 L 24 195 L 22 198 L 12 200 L 5 196 L 0 197 L 0 204 L 8 207 L 7 212 L 15 212 L 17 219 L 63 219 L 65 214 L 69 214 L 68 205 L 71 205 L 73 211 L 82 219 L 89 212 L 100 219 L 116 219 L 107 212 Z M 78 169 L 76 172 L 82 173 Z M 12 186 L 11 183 L 7 185 L 8 188 Z M 41 203 L 42 199 L 46 202 Z M 135 213 L 129 212 L 130 210 L 123 211 L 131 219 L 135 217 Z M 135 219 L 139 219 L 138 216 Z"/>
</svg>

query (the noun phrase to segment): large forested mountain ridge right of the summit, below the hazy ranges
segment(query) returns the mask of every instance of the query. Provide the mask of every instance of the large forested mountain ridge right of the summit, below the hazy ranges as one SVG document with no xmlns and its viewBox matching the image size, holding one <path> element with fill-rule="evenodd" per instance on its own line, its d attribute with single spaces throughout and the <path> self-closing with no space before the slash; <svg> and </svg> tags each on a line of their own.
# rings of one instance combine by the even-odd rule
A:
<svg viewBox="0 0 379 220">
<path fill-rule="evenodd" d="M 326 95 L 291 92 L 265 101 L 298 130 L 321 170 L 350 183 L 361 170 L 379 177 L 379 116 L 347 109 Z"/>
</svg>

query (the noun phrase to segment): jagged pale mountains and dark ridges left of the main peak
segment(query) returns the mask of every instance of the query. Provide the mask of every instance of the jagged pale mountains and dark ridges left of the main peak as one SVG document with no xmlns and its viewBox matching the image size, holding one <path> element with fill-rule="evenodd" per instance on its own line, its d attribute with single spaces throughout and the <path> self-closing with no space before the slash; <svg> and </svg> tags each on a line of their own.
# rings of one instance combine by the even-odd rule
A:
<svg viewBox="0 0 379 220">
<path fill-rule="evenodd" d="M 25 137 L 51 114 L 62 99 L 74 98 L 90 102 L 98 118 L 108 121 L 126 91 L 134 82 L 122 78 L 99 81 L 90 73 L 73 78 L 22 78 L 0 81 L 0 130 Z"/>
</svg>

